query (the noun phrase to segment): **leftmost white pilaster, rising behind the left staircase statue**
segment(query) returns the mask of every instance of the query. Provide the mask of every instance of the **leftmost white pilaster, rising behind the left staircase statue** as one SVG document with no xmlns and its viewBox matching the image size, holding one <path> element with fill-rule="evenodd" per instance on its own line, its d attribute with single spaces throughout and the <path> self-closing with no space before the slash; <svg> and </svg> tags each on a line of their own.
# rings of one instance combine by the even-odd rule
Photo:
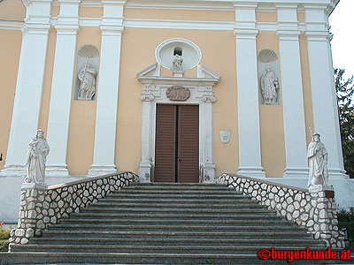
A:
<svg viewBox="0 0 354 265">
<path fill-rule="evenodd" d="M 23 27 L 16 95 L 6 163 L 1 175 L 25 176 L 28 142 L 39 125 L 44 67 L 50 30 L 51 0 L 24 1 L 27 8 Z"/>
</svg>

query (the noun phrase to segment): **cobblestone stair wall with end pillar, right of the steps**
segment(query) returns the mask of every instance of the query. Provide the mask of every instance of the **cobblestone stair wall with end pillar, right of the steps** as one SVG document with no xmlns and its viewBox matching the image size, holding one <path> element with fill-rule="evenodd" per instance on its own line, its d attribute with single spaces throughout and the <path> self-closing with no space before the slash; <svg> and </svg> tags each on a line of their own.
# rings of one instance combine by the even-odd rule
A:
<svg viewBox="0 0 354 265">
<path fill-rule="evenodd" d="M 219 176 L 218 183 L 233 186 L 236 191 L 275 209 L 279 216 L 306 228 L 314 239 L 325 241 L 327 246 L 345 247 L 333 192 L 309 193 L 306 189 L 230 174 Z"/>
</svg>

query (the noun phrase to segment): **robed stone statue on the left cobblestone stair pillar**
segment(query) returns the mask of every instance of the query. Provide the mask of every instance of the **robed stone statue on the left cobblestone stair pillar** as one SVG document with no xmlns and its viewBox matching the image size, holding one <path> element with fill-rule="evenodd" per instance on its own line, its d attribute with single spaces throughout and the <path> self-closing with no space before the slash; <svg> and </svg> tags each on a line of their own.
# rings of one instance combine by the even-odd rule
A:
<svg viewBox="0 0 354 265">
<path fill-rule="evenodd" d="M 28 144 L 25 183 L 44 183 L 45 162 L 49 153 L 50 146 L 44 139 L 43 131 L 38 129 L 35 137 Z"/>
</svg>

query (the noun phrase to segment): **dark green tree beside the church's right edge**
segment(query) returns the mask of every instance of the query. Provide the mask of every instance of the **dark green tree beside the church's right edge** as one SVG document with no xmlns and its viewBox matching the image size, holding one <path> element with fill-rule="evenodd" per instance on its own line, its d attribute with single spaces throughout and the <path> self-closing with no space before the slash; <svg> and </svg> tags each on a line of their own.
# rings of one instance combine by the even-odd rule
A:
<svg viewBox="0 0 354 265">
<path fill-rule="evenodd" d="M 335 90 L 341 125 L 344 168 L 350 178 L 354 178 L 354 85 L 353 76 L 344 79 L 344 72 L 344 69 L 335 69 Z"/>
</svg>

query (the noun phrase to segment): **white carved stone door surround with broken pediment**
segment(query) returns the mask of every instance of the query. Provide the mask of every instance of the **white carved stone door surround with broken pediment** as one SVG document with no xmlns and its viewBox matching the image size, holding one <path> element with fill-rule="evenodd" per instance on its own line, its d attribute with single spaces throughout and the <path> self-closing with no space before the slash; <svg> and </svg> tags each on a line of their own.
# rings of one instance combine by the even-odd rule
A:
<svg viewBox="0 0 354 265">
<path fill-rule="evenodd" d="M 197 67 L 196 78 L 160 77 L 158 64 L 152 64 L 137 73 L 142 84 L 142 158 L 139 166 L 141 182 L 154 178 L 156 143 L 156 106 L 158 103 L 179 104 L 165 95 L 168 87 L 189 88 L 190 97 L 181 104 L 199 106 L 199 182 L 214 182 L 215 164 L 212 148 L 212 103 L 216 102 L 213 87 L 219 75 L 203 65 Z"/>
</svg>

